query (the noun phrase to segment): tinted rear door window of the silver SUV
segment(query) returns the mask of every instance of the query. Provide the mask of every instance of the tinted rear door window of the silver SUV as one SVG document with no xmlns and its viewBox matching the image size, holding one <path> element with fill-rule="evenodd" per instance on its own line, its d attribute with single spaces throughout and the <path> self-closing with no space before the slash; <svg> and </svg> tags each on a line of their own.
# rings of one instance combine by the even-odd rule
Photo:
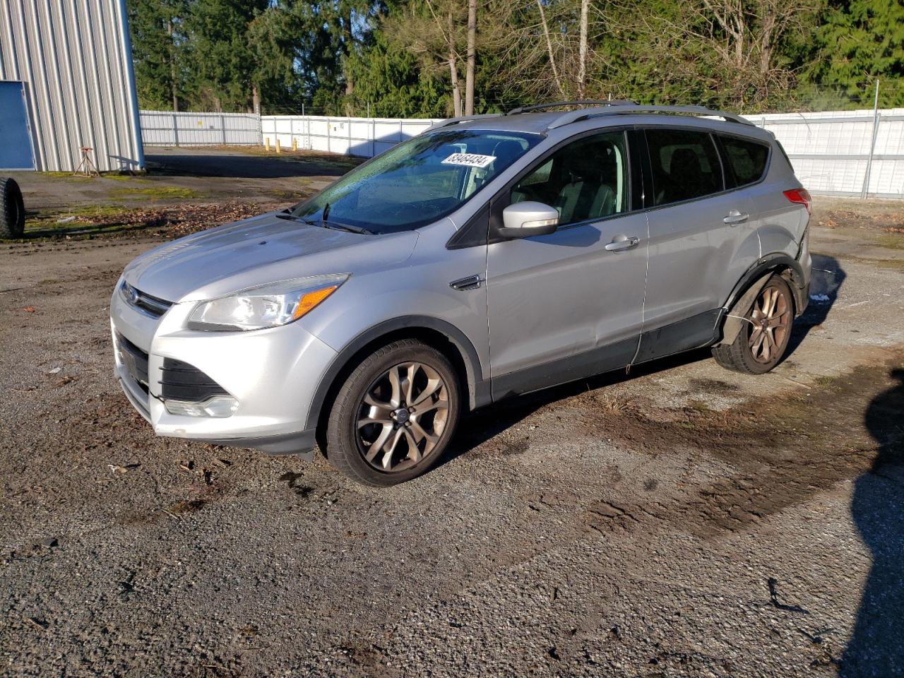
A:
<svg viewBox="0 0 904 678">
<path fill-rule="evenodd" d="M 691 200 L 724 188 L 719 154 L 707 132 L 647 129 L 646 144 L 653 165 L 654 204 Z"/>
</svg>

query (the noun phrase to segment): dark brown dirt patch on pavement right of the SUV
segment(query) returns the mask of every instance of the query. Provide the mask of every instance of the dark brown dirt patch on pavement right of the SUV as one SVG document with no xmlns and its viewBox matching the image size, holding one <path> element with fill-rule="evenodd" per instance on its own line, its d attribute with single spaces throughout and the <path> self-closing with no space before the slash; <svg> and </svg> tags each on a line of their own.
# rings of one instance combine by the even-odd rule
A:
<svg viewBox="0 0 904 678">
<path fill-rule="evenodd" d="M 658 504 L 591 506 L 587 524 L 629 527 L 644 516 L 680 524 L 697 536 L 743 530 L 767 515 L 804 502 L 841 480 L 869 470 L 879 449 L 876 438 L 901 438 L 891 416 L 904 411 L 899 389 L 904 350 L 888 363 L 860 366 L 835 378 L 817 380 L 810 391 L 748 401 L 725 411 L 681 408 L 672 411 L 637 407 L 617 418 L 589 412 L 583 424 L 601 437 L 646 454 L 666 455 L 690 449 L 700 459 L 715 457 L 737 468 L 731 476 L 690 491 L 683 501 Z M 885 393 L 887 419 L 880 429 L 864 425 L 865 404 Z M 585 400 L 586 399 L 579 399 Z M 898 438 L 895 438 L 896 440 Z M 655 485 L 650 487 L 651 491 Z"/>
</svg>

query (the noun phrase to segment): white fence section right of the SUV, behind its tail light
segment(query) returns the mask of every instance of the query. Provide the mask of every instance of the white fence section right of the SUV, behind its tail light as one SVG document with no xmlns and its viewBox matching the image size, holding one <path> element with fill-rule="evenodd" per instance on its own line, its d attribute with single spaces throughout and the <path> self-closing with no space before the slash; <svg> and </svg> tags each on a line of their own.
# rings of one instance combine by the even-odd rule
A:
<svg viewBox="0 0 904 678">
<path fill-rule="evenodd" d="M 868 194 L 904 198 L 904 108 L 880 110 L 878 125 L 872 110 L 747 118 L 775 134 L 811 193 L 860 195 L 870 165 Z"/>
</svg>

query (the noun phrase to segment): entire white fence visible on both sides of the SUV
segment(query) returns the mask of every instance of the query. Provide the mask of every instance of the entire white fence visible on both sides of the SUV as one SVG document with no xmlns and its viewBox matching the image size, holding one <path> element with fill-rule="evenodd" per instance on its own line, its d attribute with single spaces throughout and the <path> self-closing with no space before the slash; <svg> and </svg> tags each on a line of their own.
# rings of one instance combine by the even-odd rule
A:
<svg viewBox="0 0 904 678">
<path fill-rule="evenodd" d="M 812 193 L 904 198 L 904 108 L 751 115 L 785 147 Z M 372 157 L 438 122 L 432 118 L 256 116 L 141 111 L 147 146 L 266 144 Z M 870 160 L 870 157 L 872 159 Z"/>
</svg>

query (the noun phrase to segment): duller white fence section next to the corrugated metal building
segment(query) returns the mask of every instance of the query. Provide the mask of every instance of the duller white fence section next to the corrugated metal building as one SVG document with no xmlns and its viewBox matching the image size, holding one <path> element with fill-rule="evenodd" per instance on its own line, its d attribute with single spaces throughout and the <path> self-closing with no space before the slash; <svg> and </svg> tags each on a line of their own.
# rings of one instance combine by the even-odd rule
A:
<svg viewBox="0 0 904 678">
<path fill-rule="evenodd" d="M 260 116 L 143 110 L 141 137 L 145 146 L 257 146 Z"/>
</svg>

